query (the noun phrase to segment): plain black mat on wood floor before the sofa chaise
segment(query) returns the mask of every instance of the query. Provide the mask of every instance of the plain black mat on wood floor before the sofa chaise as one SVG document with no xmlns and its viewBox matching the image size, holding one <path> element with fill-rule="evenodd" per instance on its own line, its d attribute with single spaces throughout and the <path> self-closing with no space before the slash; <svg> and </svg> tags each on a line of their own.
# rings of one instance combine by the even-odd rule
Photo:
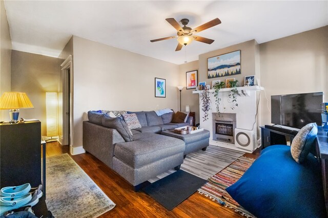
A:
<svg viewBox="0 0 328 218">
<path fill-rule="evenodd" d="M 172 210 L 206 182 L 186 171 L 178 170 L 142 190 L 166 209 Z"/>
</svg>

